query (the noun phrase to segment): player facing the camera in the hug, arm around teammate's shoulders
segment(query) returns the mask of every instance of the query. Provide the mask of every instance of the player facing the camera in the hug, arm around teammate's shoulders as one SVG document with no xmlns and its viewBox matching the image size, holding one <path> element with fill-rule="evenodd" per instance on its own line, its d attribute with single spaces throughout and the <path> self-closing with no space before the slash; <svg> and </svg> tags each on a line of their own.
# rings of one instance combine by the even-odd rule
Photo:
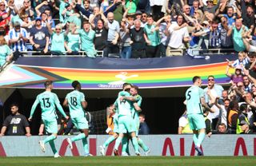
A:
<svg viewBox="0 0 256 166">
<path fill-rule="evenodd" d="M 131 86 L 131 88 L 130 88 L 130 95 L 132 97 L 123 97 L 123 99 L 135 102 L 138 105 L 138 107 L 141 107 L 141 105 L 142 105 L 142 97 L 140 95 L 138 95 L 138 86 L 137 85 L 132 85 Z M 146 146 L 146 144 L 143 142 L 143 140 L 138 137 L 138 128 L 139 128 L 138 113 L 139 113 L 139 111 L 137 111 L 133 107 L 132 108 L 132 112 L 131 112 L 131 116 L 132 116 L 132 119 L 134 121 L 134 125 L 136 127 L 135 133 L 136 133 L 136 136 L 138 138 L 138 145 L 143 149 L 143 151 L 145 152 L 145 155 L 147 156 L 150 153 L 150 148 L 148 148 Z M 129 143 L 129 141 L 124 139 L 124 141 L 122 142 L 122 148 L 124 148 L 124 149 L 128 148 L 128 143 Z M 125 150 L 122 150 L 122 152 L 125 152 Z M 126 150 L 126 152 L 127 152 L 127 150 Z M 124 155 L 126 155 L 126 153 L 124 153 Z"/>
</svg>

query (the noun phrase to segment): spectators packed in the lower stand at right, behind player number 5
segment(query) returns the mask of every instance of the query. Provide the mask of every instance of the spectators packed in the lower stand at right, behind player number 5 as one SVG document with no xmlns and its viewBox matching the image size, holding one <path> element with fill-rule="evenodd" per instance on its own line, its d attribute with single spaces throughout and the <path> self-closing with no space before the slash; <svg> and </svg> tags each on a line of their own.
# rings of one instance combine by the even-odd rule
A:
<svg viewBox="0 0 256 166">
<path fill-rule="evenodd" d="M 256 53 L 239 53 L 238 61 L 227 62 L 226 76 L 230 86 L 215 84 L 214 76 L 208 77 L 204 89 L 210 113 L 204 111 L 206 134 L 251 134 L 256 132 Z M 245 61 L 247 60 L 247 61 Z M 236 67 L 233 67 L 236 66 Z M 230 74 L 230 68 L 234 74 Z M 178 133 L 191 133 L 186 112 L 179 119 Z"/>
</svg>

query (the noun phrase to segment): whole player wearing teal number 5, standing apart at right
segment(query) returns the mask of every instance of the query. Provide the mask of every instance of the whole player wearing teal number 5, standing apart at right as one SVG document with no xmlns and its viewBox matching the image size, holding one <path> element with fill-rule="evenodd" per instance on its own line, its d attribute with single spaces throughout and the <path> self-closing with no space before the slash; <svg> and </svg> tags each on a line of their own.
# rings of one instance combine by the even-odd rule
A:
<svg viewBox="0 0 256 166">
<path fill-rule="evenodd" d="M 193 84 L 186 90 L 186 110 L 190 128 L 193 130 L 195 150 L 198 152 L 198 156 L 203 156 L 200 146 L 206 136 L 206 123 L 203 117 L 202 106 L 208 110 L 210 108 L 206 105 L 204 91 L 200 88 L 202 85 L 201 77 L 193 77 Z"/>
</svg>

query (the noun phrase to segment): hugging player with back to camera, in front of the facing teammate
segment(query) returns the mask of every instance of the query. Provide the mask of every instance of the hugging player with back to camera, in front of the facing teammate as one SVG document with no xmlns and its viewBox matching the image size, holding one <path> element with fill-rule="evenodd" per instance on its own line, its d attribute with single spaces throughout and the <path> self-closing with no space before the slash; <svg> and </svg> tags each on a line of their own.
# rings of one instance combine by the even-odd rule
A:
<svg viewBox="0 0 256 166">
<path fill-rule="evenodd" d="M 114 144 L 114 155 L 118 156 L 118 146 L 122 142 L 122 138 L 125 133 L 129 133 L 132 139 L 132 144 L 134 145 L 134 151 L 137 156 L 140 155 L 138 151 L 138 140 L 135 134 L 136 128 L 134 125 L 134 121 L 131 118 L 131 110 L 132 105 L 134 105 L 131 101 L 122 100 L 122 97 L 130 96 L 130 84 L 125 83 L 123 85 L 122 92 L 118 93 L 118 99 L 115 102 L 115 106 L 118 110 L 118 132 L 119 136 Z M 128 91 L 128 92 L 127 92 Z M 137 110 L 141 110 L 138 105 L 134 105 L 134 108 Z"/>
</svg>

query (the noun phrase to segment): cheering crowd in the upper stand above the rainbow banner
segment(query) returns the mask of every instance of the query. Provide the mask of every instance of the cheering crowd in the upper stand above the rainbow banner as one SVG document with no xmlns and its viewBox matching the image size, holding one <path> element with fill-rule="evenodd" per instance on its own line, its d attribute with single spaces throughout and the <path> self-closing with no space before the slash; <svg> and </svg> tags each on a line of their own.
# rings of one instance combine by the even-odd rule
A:
<svg viewBox="0 0 256 166">
<path fill-rule="evenodd" d="M 255 9 L 255 0 L 1 0 L 0 65 L 27 50 L 122 58 L 255 52 Z"/>
</svg>

